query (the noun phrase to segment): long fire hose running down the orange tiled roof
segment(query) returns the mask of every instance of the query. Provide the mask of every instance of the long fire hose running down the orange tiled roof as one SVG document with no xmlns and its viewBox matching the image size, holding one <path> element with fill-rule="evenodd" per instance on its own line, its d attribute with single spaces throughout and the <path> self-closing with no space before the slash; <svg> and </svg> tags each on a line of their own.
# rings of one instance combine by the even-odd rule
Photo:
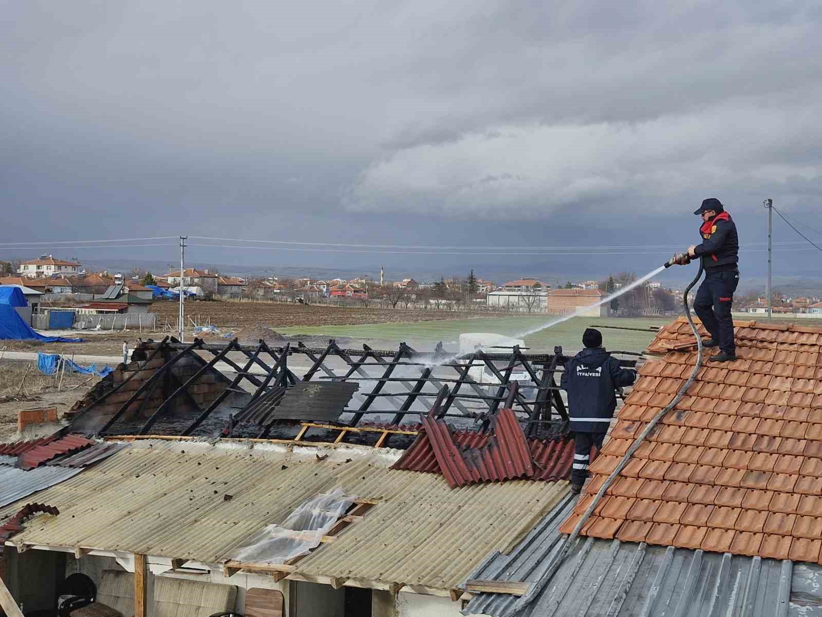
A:
<svg viewBox="0 0 822 617">
<path fill-rule="evenodd" d="M 684 254 L 677 254 L 674 255 L 669 262 L 665 263 L 665 267 L 672 266 L 674 264 L 684 266 L 690 263 L 690 257 Z M 702 368 L 702 337 L 700 336 L 700 332 L 696 329 L 695 323 L 693 318 L 690 316 L 690 307 L 688 306 L 688 294 L 690 290 L 693 289 L 694 285 L 700 280 L 702 277 L 702 273 L 704 271 L 704 267 L 702 264 L 702 260 L 700 259 L 700 270 L 696 273 L 693 281 L 690 281 L 690 285 L 686 287 L 685 293 L 682 295 L 682 304 L 685 307 L 685 317 L 688 320 L 688 324 L 690 325 L 690 329 L 694 332 L 694 336 L 696 337 L 696 364 L 694 365 L 694 370 L 691 371 L 690 377 L 686 380 L 685 383 L 677 391 L 677 395 L 673 397 L 672 401 L 669 402 L 663 409 L 659 410 L 657 415 L 653 416 L 653 419 L 648 423 L 648 425 L 642 430 L 642 432 L 635 438 L 634 443 L 631 443 L 628 447 L 628 450 L 625 453 L 625 456 L 621 458 L 619 462 L 617 462 L 617 466 L 611 472 L 611 475 L 607 477 L 607 479 L 603 482 L 603 484 L 599 487 L 597 494 L 593 496 L 593 501 L 589 504 L 588 508 L 585 509 L 582 517 L 580 520 L 577 521 L 574 530 L 571 531 L 570 535 L 566 537 L 560 551 L 556 554 L 556 558 L 554 559 L 551 568 L 548 569 L 546 577 L 543 578 L 544 581 L 549 581 L 553 578 L 553 575 L 556 573 L 556 570 L 559 569 L 562 560 L 566 558 L 568 551 L 570 550 L 571 545 L 573 545 L 574 540 L 580 536 L 580 531 L 584 527 L 585 522 L 588 521 L 589 517 L 593 513 L 593 511 L 599 505 L 601 499 L 603 499 L 603 495 L 607 491 L 608 487 L 610 487 L 614 480 L 617 479 L 620 472 L 625 468 L 625 466 L 630 461 L 630 457 L 636 452 L 637 448 L 644 442 L 645 438 L 651 433 L 651 431 L 656 427 L 659 423 L 659 420 L 662 420 L 668 411 L 671 411 L 677 403 L 682 400 L 682 397 L 685 396 L 688 388 L 694 383 L 697 373 L 700 372 Z M 529 593 L 529 596 L 531 594 Z"/>
</svg>

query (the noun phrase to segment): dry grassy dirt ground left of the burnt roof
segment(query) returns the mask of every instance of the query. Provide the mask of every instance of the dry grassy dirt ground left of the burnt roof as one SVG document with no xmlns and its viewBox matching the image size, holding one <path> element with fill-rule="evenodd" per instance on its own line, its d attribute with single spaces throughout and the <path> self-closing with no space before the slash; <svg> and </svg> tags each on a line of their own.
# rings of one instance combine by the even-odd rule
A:
<svg viewBox="0 0 822 617">
<path fill-rule="evenodd" d="M 99 377 L 65 373 L 58 383 L 53 375 L 40 373 L 36 363 L 0 360 L 0 441 L 16 433 L 17 411 L 57 407 L 62 417 L 97 382 Z"/>
</svg>

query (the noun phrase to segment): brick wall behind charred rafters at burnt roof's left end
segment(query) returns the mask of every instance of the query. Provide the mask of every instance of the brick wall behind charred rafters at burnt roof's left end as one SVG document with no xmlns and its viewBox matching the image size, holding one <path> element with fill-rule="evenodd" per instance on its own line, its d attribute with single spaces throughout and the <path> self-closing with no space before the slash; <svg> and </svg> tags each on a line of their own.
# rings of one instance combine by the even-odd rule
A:
<svg viewBox="0 0 822 617">
<path fill-rule="evenodd" d="M 146 355 L 150 356 L 156 345 L 159 345 L 159 343 L 155 343 L 154 346 L 147 346 Z M 164 354 L 165 358 L 163 357 Z M 81 431 L 95 432 L 99 427 L 105 424 L 105 422 L 111 419 L 111 417 L 120 410 L 123 403 L 128 401 L 128 399 L 130 399 L 145 382 L 152 378 L 155 373 L 163 367 L 167 360 L 173 358 L 174 355 L 174 350 L 167 350 L 165 352 L 161 351 L 153 360 L 119 364 L 117 369 L 114 369 L 113 373 L 111 373 L 110 378 L 99 382 L 97 386 L 91 390 L 89 395 L 80 401 L 75 406 L 75 409 L 72 410 L 72 415 L 74 416 L 72 428 Z M 142 392 L 141 396 L 137 397 L 126 410 L 125 414 L 121 416 L 118 423 L 121 421 L 123 423 L 129 423 L 147 420 L 157 411 L 167 397 L 170 397 L 182 383 L 185 383 L 187 379 L 191 378 L 204 364 L 204 360 L 194 357 L 193 355 L 178 360 L 169 371 L 169 373 L 173 375 L 173 378 L 170 375 L 157 378 L 155 380 L 155 386 L 150 386 L 145 392 Z M 104 392 L 111 391 L 123 382 L 126 382 L 125 385 L 117 392 L 104 398 L 103 401 L 91 407 L 88 412 L 84 412 L 85 407 L 88 406 L 91 401 L 100 397 Z M 199 411 L 205 410 L 206 407 L 215 401 L 228 385 L 229 380 L 227 378 L 224 378 L 218 371 L 210 369 L 187 388 L 190 397 L 187 397 L 185 393 L 181 392 L 177 397 L 174 397 L 172 403 L 166 407 L 164 413 L 179 416 L 192 415 L 193 419 L 193 416 L 198 414 Z M 148 399 L 147 401 L 145 401 L 146 398 Z M 143 401 L 145 401 L 145 406 L 143 406 L 141 410 Z M 196 402 L 196 405 L 200 408 L 199 410 L 195 408 L 192 401 Z"/>
</svg>

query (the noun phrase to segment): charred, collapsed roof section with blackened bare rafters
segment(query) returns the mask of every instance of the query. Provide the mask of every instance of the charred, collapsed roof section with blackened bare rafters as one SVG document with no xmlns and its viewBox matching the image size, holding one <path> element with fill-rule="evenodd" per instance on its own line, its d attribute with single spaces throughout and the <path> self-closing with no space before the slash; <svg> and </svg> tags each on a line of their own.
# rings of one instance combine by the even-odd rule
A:
<svg viewBox="0 0 822 617">
<path fill-rule="evenodd" d="M 195 339 L 186 345 L 167 337 L 138 351 L 141 360 L 118 367 L 77 404 L 72 430 L 298 441 L 356 435 L 373 445 L 367 428 L 381 423 L 395 432 L 374 439 L 401 447 L 396 431 L 415 434 L 413 423 L 428 414 L 445 386 L 437 420 L 463 428 L 476 423 L 487 432 L 510 399 L 506 407 L 526 437 L 566 430 L 556 383 L 566 356 L 558 347 L 552 355 L 524 355 L 517 346 L 500 354 L 450 355 L 441 346 L 422 353 L 405 344 L 395 351 L 344 350 L 335 341 L 324 349 L 272 348 L 265 341 L 243 346 L 236 339 L 222 345 Z M 302 376 L 289 367 L 294 356 L 311 364 Z"/>
</svg>

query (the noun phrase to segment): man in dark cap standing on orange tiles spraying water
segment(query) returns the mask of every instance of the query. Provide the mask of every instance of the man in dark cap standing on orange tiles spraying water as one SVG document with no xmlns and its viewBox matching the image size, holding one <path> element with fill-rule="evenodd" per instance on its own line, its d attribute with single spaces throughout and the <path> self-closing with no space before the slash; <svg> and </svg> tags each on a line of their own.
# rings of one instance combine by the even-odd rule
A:
<svg viewBox="0 0 822 617">
<path fill-rule="evenodd" d="M 690 257 L 700 257 L 705 278 L 696 292 L 694 311 L 711 335 L 705 347 L 719 347 L 720 353 L 709 360 L 737 360 L 733 341 L 731 307 L 733 294 L 739 285 L 739 237 L 737 225 L 718 199 L 704 200 L 694 214 L 702 216 L 702 244 L 688 248 Z"/>
</svg>

